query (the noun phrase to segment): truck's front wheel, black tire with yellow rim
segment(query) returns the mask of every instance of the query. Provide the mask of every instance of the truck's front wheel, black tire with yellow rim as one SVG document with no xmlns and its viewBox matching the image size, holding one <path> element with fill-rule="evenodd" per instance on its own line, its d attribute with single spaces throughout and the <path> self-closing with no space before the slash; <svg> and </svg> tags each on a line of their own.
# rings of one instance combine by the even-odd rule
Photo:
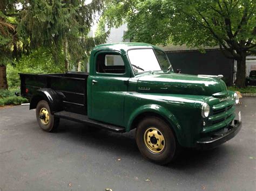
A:
<svg viewBox="0 0 256 191">
<path fill-rule="evenodd" d="M 150 134 L 152 132 L 157 132 L 158 133 L 157 137 L 160 134 L 162 134 L 162 136 L 164 137 L 164 144 L 161 145 L 161 147 L 163 148 L 161 149 L 157 148 L 158 151 L 152 151 L 152 149 L 156 150 L 156 148 L 153 148 L 152 146 L 153 145 L 156 146 L 157 143 L 159 144 L 160 143 L 158 142 L 159 139 L 157 139 L 156 144 L 152 143 L 153 139 L 152 140 L 146 139 L 147 135 L 149 135 L 149 137 L 150 135 L 153 135 L 153 136 L 155 135 L 155 134 Z M 145 143 L 147 142 L 147 140 L 149 141 L 149 143 L 151 141 L 151 146 L 150 144 Z M 170 126 L 158 117 L 146 117 L 142 119 L 142 121 L 139 123 L 136 130 L 136 143 L 140 153 L 142 153 L 142 155 L 147 160 L 150 160 L 160 165 L 168 164 L 169 162 L 174 160 L 174 158 L 176 158 L 177 156 L 178 148 L 179 148 L 176 137 L 174 136 L 174 133 L 172 132 L 172 129 L 170 128 Z M 159 153 L 156 153 L 156 152 L 159 152 Z"/>
</svg>

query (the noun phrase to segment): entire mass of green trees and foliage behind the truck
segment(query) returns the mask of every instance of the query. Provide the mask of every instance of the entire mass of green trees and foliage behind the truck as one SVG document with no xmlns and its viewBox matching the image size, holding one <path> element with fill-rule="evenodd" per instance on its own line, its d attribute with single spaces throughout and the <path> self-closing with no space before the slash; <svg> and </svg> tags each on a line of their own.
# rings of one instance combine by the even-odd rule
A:
<svg viewBox="0 0 256 191">
<path fill-rule="evenodd" d="M 1 90 L 0 105 L 24 101 L 12 97 L 20 86 L 18 73 L 83 71 L 91 49 L 109 34 L 105 24 L 111 28 L 126 22 L 124 38 L 132 41 L 219 45 L 239 61 L 256 53 L 255 11 L 256 0 L 0 1 L 0 66 L 7 66 L 10 89 Z M 102 12 L 96 37 L 88 37 L 95 15 Z"/>
</svg>

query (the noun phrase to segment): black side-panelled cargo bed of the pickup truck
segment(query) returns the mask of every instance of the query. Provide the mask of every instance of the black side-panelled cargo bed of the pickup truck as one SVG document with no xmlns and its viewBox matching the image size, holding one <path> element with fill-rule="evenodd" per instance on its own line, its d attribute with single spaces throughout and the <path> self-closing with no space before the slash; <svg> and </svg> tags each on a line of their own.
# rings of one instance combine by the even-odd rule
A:
<svg viewBox="0 0 256 191">
<path fill-rule="evenodd" d="M 89 73 L 67 72 L 61 74 L 19 74 L 21 95 L 29 100 L 40 88 L 51 88 L 64 95 L 65 111 L 87 115 L 87 77 Z M 28 93 L 26 93 L 28 89 Z"/>
</svg>

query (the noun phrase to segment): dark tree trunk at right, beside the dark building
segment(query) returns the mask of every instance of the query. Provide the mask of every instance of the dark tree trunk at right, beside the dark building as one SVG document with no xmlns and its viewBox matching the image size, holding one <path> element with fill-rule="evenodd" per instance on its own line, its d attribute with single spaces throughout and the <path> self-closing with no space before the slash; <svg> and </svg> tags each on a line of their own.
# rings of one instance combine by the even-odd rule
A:
<svg viewBox="0 0 256 191">
<path fill-rule="evenodd" d="M 245 88 L 245 69 L 246 55 L 242 54 L 241 59 L 237 60 L 237 80 L 235 85 L 239 88 Z"/>
</svg>

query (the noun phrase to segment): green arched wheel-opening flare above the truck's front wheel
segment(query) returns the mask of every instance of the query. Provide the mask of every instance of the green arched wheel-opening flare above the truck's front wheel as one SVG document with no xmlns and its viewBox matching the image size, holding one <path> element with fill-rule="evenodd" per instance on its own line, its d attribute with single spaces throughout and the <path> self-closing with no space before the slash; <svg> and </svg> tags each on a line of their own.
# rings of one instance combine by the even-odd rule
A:
<svg viewBox="0 0 256 191">
<path fill-rule="evenodd" d="M 139 107 L 136 110 L 134 110 L 128 120 L 128 124 L 126 126 L 126 132 L 130 131 L 130 129 L 132 128 L 132 123 L 134 119 L 136 119 L 139 115 L 146 112 L 151 112 L 165 118 L 166 121 L 170 123 L 171 128 L 176 134 L 179 142 L 181 142 L 185 138 L 184 137 L 185 134 L 183 133 L 183 130 L 181 129 L 177 118 L 169 110 L 157 104 L 143 105 L 142 107 Z"/>
</svg>

